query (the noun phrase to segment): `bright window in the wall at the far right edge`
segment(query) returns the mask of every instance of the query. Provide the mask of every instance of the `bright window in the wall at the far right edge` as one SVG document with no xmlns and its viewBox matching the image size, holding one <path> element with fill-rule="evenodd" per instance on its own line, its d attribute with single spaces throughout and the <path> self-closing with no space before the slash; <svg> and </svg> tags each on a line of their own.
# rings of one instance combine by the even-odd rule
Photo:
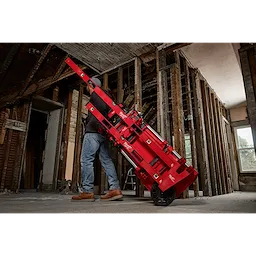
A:
<svg viewBox="0 0 256 256">
<path fill-rule="evenodd" d="M 236 146 L 241 172 L 256 172 L 256 155 L 250 126 L 235 128 Z"/>
</svg>

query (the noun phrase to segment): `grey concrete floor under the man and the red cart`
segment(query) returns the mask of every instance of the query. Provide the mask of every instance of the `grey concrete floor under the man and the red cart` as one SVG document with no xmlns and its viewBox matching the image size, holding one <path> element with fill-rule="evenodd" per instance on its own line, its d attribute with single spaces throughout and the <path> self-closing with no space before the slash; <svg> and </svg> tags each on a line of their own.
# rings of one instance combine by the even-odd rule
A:
<svg viewBox="0 0 256 256">
<path fill-rule="evenodd" d="M 21 192 L 0 194 L 0 215 L 119 215 L 119 216 L 256 216 L 256 192 L 234 192 L 215 197 L 176 199 L 169 206 L 155 206 L 148 191 L 136 198 L 134 191 L 124 191 L 123 201 L 71 201 L 72 195 L 58 193 Z"/>
</svg>

